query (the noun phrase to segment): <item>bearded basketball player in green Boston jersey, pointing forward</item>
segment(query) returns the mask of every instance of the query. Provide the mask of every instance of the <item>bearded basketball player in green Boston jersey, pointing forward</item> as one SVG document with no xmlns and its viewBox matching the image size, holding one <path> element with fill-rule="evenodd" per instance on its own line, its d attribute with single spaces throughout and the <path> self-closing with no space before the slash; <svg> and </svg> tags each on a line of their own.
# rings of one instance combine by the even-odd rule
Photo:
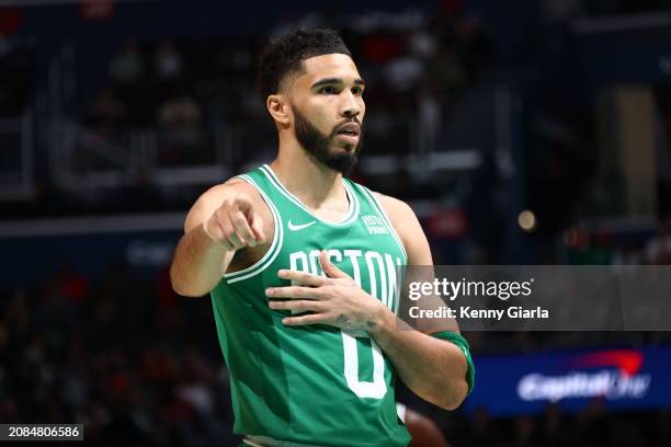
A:
<svg viewBox="0 0 671 447">
<path fill-rule="evenodd" d="M 364 81 L 339 35 L 316 30 L 271 42 L 259 85 L 277 157 L 197 199 L 172 285 L 211 294 L 246 445 L 405 446 L 396 376 L 455 409 L 473 365 L 451 326 L 396 329 L 397 266 L 432 259 L 410 207 L 345 177 Z"/>
</svg>

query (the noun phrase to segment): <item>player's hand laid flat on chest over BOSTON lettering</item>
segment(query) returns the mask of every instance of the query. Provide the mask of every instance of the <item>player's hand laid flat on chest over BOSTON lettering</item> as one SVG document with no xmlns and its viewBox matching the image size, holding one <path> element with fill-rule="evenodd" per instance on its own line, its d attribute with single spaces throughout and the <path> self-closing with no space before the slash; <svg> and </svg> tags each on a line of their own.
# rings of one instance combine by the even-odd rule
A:
<svg viewBox="0 0 671 447">
<path fill-rule="evenodd" d="M 283 319 L 286 325 L 329 324 L 353 330 L 374 328 L 382 302 L 333 265 L 327 251 L 321 251 L 319 263 L 327 277 L 298 271 L 278 271 L 277 276 L 291 279 L 296 285 L 269 287 L 265 290 L 265 295 L 271 298 L 269 307 L 295 313 L 311 312 Z"/>
</svg>

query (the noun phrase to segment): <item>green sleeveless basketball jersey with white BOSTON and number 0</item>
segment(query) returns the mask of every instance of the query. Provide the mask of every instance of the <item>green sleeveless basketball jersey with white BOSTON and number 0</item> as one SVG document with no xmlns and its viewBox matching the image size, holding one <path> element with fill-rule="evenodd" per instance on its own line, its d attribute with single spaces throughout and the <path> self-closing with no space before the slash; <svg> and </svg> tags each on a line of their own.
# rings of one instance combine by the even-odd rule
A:
<svg viewBox="0 0 671 447">
<path fill-rule="evenodd" d="M 339 222 L 304 206 L 263 165 L 240 179 L 253 185 L 275 222 L 270 249 L 254 265 L 224 275 L 212 291 L 219 344 L 230 374 L 234 432 L 287 446 L 406 446 L 396 414 L 395 371 L 364 331 L 326 324 L 285 326 L 287 311 L 268 306 L 265 288 L 287 286 L 277 271 L 323 275 L 320 250 L 360 286 L 398 311 L 405 249 L 373 194 L 343 180 L 350 200 Z"/>
</svg>

